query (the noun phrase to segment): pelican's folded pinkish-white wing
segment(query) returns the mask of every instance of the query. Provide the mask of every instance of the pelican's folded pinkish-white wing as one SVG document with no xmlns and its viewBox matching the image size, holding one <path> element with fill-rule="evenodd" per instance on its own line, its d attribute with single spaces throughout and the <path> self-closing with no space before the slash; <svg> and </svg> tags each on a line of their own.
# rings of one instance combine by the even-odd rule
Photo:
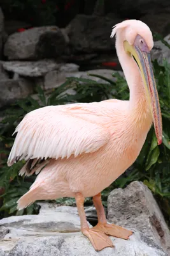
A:
<svg viewBox="0 0 170 256">
<path fill-rule="evenodd" d="M 102 125 L 76 117 L 70 109 L 58 106 L 27 114 L 15 132 L 8 166 L 21 159 L 58 159 L 72 154 L 76 157 L 95 152 L 110 140 L 110 132 Z"/>
</svg>

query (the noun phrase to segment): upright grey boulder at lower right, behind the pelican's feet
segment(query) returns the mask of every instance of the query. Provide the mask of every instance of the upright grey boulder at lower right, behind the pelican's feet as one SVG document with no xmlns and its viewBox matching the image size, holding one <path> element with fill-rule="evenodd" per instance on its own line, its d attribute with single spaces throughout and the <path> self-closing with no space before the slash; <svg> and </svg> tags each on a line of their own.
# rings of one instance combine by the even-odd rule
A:
<svg viewBox="0 0 170 256">
<path fill-rule="evenodd" d="M 142 182 L 115 189 L 108 196 L 108 220 L 126 228 L 135 228 L 162 246 L 170 255 L 170 232 L 151 191 Z"/>
</svg>

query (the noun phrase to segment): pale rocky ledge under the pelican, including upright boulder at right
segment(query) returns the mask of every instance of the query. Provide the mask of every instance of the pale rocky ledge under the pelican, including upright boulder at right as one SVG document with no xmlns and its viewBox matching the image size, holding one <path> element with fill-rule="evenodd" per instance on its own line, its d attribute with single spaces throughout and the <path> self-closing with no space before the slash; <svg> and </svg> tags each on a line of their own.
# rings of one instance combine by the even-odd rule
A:
<svg viewBox="0 0 170 256">
<path fill-rule="evenodd" d="M 11 216 L 0 221 L 0 256 L 168 256 L 170 234 L 164 217 L 141 182 L 115 189 L 108 198 L 108 221 L 131 228 L 128 241 L 111 237 L 115 248 L 96 252 L 80 232 L 76 207 L 41 202 L 38 215 Z M 85 209 L 97 218 L 94 207 Z M 90 224 L 89 224 L 90 225 Z"/>
</svg>

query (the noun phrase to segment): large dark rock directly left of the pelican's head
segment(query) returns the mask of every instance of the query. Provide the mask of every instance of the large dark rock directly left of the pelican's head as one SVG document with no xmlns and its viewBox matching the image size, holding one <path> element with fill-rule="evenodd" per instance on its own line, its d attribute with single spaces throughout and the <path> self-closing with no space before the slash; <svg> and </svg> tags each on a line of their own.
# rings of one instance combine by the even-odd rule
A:
<svg viewBox="0 0 170 256">
<path fill-rule="evenodd" d="M 110 17 L 76 15 L 68 29 L 73 54 L 115 51 L 115 39 L 111 39 L 110 34 L 118 22 L 120 20 Z"/>
</svg>

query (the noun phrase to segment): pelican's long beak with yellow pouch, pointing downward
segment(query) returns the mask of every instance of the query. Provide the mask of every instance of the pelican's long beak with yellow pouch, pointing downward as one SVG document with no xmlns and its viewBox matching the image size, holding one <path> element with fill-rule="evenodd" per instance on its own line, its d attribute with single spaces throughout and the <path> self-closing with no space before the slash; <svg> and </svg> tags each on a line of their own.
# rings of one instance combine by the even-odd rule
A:
<svg viewBox="0 0 170 256">
<path fill-rule="evenodd" d="M 141 70 L 141 76 L 146 88 L 146 95 L 148 95 L 148 100 L 150 101 L 155 134 L 157 136 L 158 145 L 160 145 L 162 143 L 162 116 L 150 52 L 141 51 L 138 46 L 129 45 L 127 41 L 124 42 L 124 48 L 125 51 L 134 56 Z"/>
</svg>

